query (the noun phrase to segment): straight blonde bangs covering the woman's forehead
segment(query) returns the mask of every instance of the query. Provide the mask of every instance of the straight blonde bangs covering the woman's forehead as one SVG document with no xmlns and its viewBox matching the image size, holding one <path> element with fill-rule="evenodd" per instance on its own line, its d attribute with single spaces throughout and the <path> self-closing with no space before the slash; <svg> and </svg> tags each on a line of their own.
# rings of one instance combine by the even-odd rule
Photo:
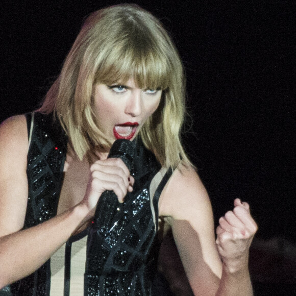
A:
<svg viewBox="0 0 296 296">
<path fill-rule="evenodd" d="M 118 43 L 98 66 L 95 83 L 126 83 L 132 78 L 143 89 L 166 89 L 170 85 L 171 67 L 161 48 L 147 40 L 141 43 L 133 36 Z"/>
</svg>

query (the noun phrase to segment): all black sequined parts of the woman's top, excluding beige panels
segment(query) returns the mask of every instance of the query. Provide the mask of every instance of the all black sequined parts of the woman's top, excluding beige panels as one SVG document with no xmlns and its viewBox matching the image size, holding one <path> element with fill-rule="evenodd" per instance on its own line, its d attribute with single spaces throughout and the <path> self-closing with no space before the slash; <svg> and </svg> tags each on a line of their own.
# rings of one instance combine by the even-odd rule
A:
<svg viewBox="0 0 296 296">
<path fill-rule="evenodd" d="M 51 114 L 29 113 L 27 122 L 29 199 L 24 228 L 38 225 L 57 214 L 67 147 L 67 137 Z M 158 185 L 152 207 L 150 185 L 160 168 L 154 154 L 147 151 L 141 141 L 136 141 L 131 170 L 135 178 L 133 192 L 128 193 L 123 205 L 118 205 L 111 227 L 106 227 L 103 219 L 101 224 L 93 224 L 86 230 L 84 296 L 152 294 L 158 255 L 155 238 L 158 199 L 171 174 L 168 170 Z M 66 244 L 64 295 L 69 295 L 70 250 L 71 238 Z M 48 260 L 35 273 L 10 288 L 12 295 L 41 296 L 50 295 L 50 286 Z"/>
</svg>

